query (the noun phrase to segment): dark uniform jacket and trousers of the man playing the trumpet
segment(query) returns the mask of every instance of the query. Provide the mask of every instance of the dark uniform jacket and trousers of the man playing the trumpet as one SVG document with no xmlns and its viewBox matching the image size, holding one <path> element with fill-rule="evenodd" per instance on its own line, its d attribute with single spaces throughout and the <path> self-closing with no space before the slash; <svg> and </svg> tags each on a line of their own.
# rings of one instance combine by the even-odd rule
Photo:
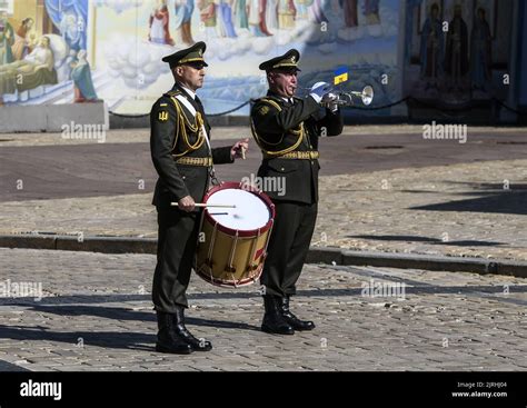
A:
<svg viewBox="0 0 527 408">
<path fill-rule="evenodd" d="M 312 97 L 285 100 L 269 91 L 253 105 L 251 126 L 264 155 L 258 176 L 285 179 L 285 193 L 264 189 L 276 218 L 260 283 L 266 295 L 288 298 L 296 293 L 317 220 L 318 138 L 339 135 L 342 117 L 340 111 L 321 111 Z M 264 181 L 266 186 L 277 183 Z"/>
</svg>

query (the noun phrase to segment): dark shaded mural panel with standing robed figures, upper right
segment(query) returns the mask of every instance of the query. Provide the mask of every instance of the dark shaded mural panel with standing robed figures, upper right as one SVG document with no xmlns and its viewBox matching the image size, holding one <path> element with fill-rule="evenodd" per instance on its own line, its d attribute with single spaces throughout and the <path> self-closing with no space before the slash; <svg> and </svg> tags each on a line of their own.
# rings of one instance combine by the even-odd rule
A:
<svg viewBox="0 0 527 408">
<path fill-rule="evenodd" d="M 466 105 L 507 100 L 511 81 L 513 0 L 409 0 L 405 94 Z"/>
</svg>

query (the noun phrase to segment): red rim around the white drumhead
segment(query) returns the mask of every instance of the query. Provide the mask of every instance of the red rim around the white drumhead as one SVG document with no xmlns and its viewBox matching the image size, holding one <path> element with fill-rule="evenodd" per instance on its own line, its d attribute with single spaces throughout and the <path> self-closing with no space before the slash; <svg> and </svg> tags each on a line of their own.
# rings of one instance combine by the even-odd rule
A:
<svg viewBox="0 0 527 408">
<path fill-rule="evenodd" d="M 212 187 L 207 195 L 203 197 L 203 202 L 207 203 L 209 200 L 210 196 L 212 196 L 215 192 L 220 191 L 220 190 L 226 190 L 226 189 L 238 189 L 238 190 L 243 190 L 251 192 L 256 196 L 258 196 L 260 199 L 264 200 L 264 202 L 267 205 L 267 207 L 270 210 L 271 216 L 269 217 L 269 221 L 261 227 L 261 228 L 256 228 L 256 229 L 232 229 L 226 226 L 222 226 L 221 223 L 217 222 L 209 213 L 208 209 L 205 209 L 203 213 L 207 219 L 212 226 L 217 226 L 218 230 L 221 232 L 225 232 L 230 236 L 236 236 L 238 233 L 238 237 L 258 237 L 259 235 L 268 231 L 272 227 L 272 222 L 276 216 L 275 211 L 275 205 L 272 203 L 271 199 L 261 190 L 258 190 L 256 187 L 248 186 L 243 182 L 238 182 L 238 181 L 225 181 L 221 182 L 219 186 Z"/>
</svg>

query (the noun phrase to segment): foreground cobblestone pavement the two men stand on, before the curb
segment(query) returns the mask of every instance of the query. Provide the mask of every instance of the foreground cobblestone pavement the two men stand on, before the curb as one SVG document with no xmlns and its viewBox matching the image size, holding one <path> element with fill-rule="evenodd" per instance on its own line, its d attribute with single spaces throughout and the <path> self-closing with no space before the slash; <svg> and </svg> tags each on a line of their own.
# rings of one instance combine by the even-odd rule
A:
<svg viewBox="0 0 527 408">
<path fill-rule="evenodd" d="M 272 336 L 257 286 L 193 276 L 188 326 L 215 348 L 167 356 L 152 348 L 153 256 L 2 248 L 0 263 L 1 370 L 527 369 L 525 279 L 308 265 L 291 305 L 317 328 Z M 22 282 L 43 298 L 14 298 Z M 364 296 L 380 283 L 397 296 Z"/>
</svg>

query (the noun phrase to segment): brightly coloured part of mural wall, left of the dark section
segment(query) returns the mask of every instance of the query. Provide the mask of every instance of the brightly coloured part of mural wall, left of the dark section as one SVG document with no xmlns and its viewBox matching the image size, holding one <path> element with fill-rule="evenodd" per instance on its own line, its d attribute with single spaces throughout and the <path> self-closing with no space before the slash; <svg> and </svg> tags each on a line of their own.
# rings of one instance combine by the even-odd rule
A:
<svg viewBox="0 0 527 408">
<path fill-rule="evenodd" d="M 300 87 L 371 84 L 376 103 L 400 98 L 399 0 L 0 0 L 0 103 L 87 103 L 149 112 L 172 84 L 161 58 L 208 44 L 206 110 L 266 92 L 258 64 L 300 50 Z M 249 107 L 235 112 L 247 115 Z M 386 111 L 380 112 L 386 115 Z"/>
</svg>

